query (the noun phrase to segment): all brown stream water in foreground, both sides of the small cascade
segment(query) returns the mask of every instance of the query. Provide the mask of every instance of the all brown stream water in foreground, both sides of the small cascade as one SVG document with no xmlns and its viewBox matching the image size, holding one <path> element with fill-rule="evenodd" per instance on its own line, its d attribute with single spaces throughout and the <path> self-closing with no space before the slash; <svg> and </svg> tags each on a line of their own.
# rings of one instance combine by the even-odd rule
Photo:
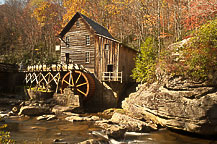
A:
<svg viewBox="0 0 217 144">
<path fill-rule="evenodd" d="M 6 119 L 7 130 L 18 144 L 50 144 L 55 139 L 62 139 L 67 143 L 78 143 L 88 139 L 95 139 L 92 131 L 101 131 L 90 122 L 68 122 L 65 120 L 37 121 L 36 118 L 11 117 Z M 137 135 L 128 133 L 123 143 L 129 144 L 217 144 L 215 140 L 207 140 L 177 134 L 168 130 Z M 111 140 L 112 143 L 117 141 Z M 120 142 L 120 141 L 119 141 Z"/>
</svg>

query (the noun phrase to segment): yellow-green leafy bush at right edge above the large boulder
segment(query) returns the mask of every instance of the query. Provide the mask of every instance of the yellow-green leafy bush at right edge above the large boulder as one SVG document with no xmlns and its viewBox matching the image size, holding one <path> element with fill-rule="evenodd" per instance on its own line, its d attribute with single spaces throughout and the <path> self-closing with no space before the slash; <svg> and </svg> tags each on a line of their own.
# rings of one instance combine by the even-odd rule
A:
<svg viewBox="0 0 217 144">
<path fill-rule="evenodd" d="M 187 74 L 196 80 L 212 79 L 217 71 L 216 27 L 217 19 L 202 25 L 184 49 Z"/>
</svg>

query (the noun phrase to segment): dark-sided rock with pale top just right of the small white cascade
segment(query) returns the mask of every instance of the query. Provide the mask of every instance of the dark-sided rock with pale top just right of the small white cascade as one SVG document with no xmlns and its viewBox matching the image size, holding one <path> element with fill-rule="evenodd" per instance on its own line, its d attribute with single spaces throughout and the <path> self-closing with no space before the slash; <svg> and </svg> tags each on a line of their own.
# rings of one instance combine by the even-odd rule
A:
<svg viewBox="0 0 217 144">
<path fill-rule="evenodd" d="M 109 136 L 109 138 L 121 139 L 124 137 L 127 129 L 124 126 L 112 124 L 108 120 L 97 121 L 95 125 L 103 128 L 105 130 L 105 134 Z"/>
</svg>

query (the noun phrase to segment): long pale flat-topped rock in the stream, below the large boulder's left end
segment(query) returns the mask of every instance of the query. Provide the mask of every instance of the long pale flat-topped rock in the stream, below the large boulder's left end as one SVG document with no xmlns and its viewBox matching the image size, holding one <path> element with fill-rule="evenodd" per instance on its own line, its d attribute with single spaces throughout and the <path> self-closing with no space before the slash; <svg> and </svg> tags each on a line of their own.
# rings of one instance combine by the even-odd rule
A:
<svg viewBox="0 0 217 144">
<path fill-rule="evenodd" d="M 157 129 L 157 125 L 155 124 L 148 124 L 143 121 L 134 119 L 132 117 L 129 117 L 125 114 L 120 114 L 120 113 L 114 113 L 111 118 L 111 122 L 117 123 L 119 125 L 126 127 L 127 131 L 150 132 L 150 131 Z"/>
</svg>

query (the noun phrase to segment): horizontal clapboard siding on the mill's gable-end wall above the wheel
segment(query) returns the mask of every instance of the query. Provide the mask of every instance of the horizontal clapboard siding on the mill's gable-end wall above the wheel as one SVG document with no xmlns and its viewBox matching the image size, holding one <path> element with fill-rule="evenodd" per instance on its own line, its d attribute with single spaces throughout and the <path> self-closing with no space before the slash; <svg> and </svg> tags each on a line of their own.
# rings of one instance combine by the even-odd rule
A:
<svg viewBox="0 0 217 144">
<path fill-rule="evenodd" d="M 79 18 L 79 27 L 76 24 L 72 26 L 70 31 L 64 36 L 69 37 L 69 47 L 66 47 L 64 42 L 61 42 L 61 62 L 66 62 L 66 53 L 69 53 L 69 62 L 81 64 L 90 72 L 94 72 L 95 62 L 95 37 L 94 32 L 88 24 Z M 86 36 L 90 36 L 90 45 L 86 44 Z M 90 52 L 90 63 L 85 62 L 85 52 Z"/>
</svg>

